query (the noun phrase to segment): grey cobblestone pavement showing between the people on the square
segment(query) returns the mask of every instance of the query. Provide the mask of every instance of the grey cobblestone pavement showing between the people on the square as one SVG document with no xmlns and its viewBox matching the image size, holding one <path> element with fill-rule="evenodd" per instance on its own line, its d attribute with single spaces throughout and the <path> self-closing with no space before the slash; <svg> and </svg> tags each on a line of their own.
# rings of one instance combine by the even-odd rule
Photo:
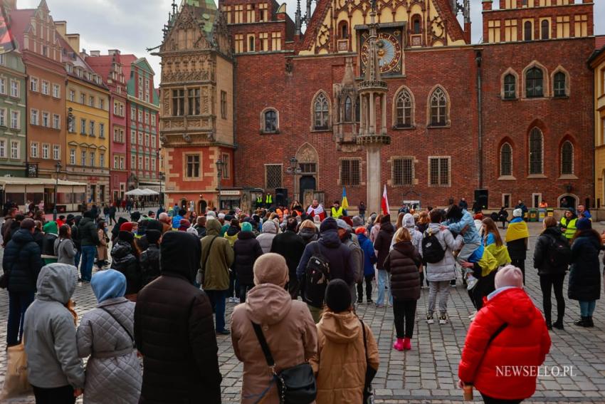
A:
<svg viewBox="0 0 605 404">
<path fill-rule="evenodd" d="M 605 227 L 596 224 L 601 232 Z M 530 224 L 530 252 L 525 264 L 527 268 L 527 292 L 539 308 L 542 308 L 542 293 L 535 270 L 532 269 L 532 252 L 540 224 Z M 567 286 L 566 288 L 567 289 Z M 565 291 L 567 296 L 567 291 Z M 375 294 L 375 288 L 374 288 Z M 95 298 L 89 284 L 78 284 L 75 292 L 76 311 L 81 315 L 95 306 Z M 375 299 L 374 299 L 375 300 Z M 464 338 L 473 312 L 468 294 L 463 286 L 451 288 L 448 307 L 450 321 L 446 325 L 426 324 L 424 311 L 428 304 L 428 289 L 422 290 L 416 313 L 416 329 L 413 349 L 398 352 L 391 348 L 394 338 L 393 311 L 391 308 L 377 309 L 374 305 L 361 304 L 358 314 L 372 327 L 377 337 L 380 368 L 374 388 L 377 403 L 456 403 L 462 399 L 461 390 L 456 388 L 458 362 Z M 233 304 L 227 304 L 227 318 Z M 553 313 L 556 302 L 553 296 Z M 0 379 L 4 378 L 6 356 L 6 316 L 8 296 L 0 291 Z M 558 366 L 572 366 L 571 375 L 543 376 L 538 380 L 537 391 L 532 402 L 537 403 L 605 403 L 605 310 L 603 303 L 596 304 L 595 328 L 580 328 L 573 321 L 579 318 L 577 301 L 567 301 L 564 318 L 565 331 L 551 333 L 552 348 L 544 363 L 547 371 Z M 522 338 L 522 336 L 520 336 Z M 233 355 L 231 338 L 219 336 L 219 363 L 223 374 L 223 401 L 236 403 L 239 400 L 243 366 Z M 557 369 L 557 368 L 554 368 Z M 475 394 L 475 399 L 477 395 Z M 15 403 L 31 403 L 33 400 L 15 400 Z"/>
</svg>

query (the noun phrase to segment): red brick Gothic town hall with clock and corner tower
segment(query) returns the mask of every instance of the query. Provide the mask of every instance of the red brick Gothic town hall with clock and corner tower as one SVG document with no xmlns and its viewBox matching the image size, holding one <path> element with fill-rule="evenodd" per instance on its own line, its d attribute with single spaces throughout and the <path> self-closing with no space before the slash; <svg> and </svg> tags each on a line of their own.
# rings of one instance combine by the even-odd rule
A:
<svg viewBox="0 0 605 404">
<path fill-rule="evenodd" d="M 386 185 L 391 207 L 476 190 L 490 208 L 596 205 L 592 2 L 483 0 L 472 44 L 460 1 L 317 0 L 295 21 L 270 0 L 174 4 L 158 51 L 166 203 L 331 204 L 345 187 L 372 211 Z"/>
</svg>

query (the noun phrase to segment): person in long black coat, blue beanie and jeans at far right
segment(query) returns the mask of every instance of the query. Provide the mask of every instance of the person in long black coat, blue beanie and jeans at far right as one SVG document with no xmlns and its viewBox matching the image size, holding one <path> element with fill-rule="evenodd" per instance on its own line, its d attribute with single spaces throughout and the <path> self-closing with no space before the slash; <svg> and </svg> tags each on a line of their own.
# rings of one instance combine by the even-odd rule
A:
<svg viewBox="0 0 605 404">
<path fill-rule="evenodd" d="M 592 229 L 590 219 L 578 219 L 576 229 L 572 239 L 572 266 L 569 269 L 567 297 L 580 304 L 582 318 L 574 324 L 594 327 L 592 314 L 596 301 L 601 297 L 599 253 L 603 245 L 599 232 Z"/>
</svg>

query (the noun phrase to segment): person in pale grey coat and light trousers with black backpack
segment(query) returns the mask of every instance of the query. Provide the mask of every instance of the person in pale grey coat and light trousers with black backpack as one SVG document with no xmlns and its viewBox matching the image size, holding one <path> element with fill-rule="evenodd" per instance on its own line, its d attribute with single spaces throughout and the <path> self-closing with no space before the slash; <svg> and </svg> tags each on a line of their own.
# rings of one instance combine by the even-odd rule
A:
<svg viewBox="0 0 605 404">
<path fill-rule="evenodd" d="M 426 280 L 428 281 L 428 311 L 426 312 L 426 322 L 432 324 L 433 311 L 435 311 L 435 301 L 439 295 L 439 323 L 445 324 L 448 322 L 448 298 L 450 294 L 450 281 L 456 279 L 456 259 L 453 257 L 453 252 L 462 248 L 463 237 L 458 234 L 454 239 L 452 233 L 441 227 L 441 211 L 439 209 L 431 210 L 429 214 L 431 224 L 423 234 L 423 237 L 429 237 L 429 234 L 434 234 L 439 240 L 441 248 L 445 254 L 439 262 L 431 264 L 426 263 Z M 421 247 L 422 249 L 422 242 Z"/>
</svg>

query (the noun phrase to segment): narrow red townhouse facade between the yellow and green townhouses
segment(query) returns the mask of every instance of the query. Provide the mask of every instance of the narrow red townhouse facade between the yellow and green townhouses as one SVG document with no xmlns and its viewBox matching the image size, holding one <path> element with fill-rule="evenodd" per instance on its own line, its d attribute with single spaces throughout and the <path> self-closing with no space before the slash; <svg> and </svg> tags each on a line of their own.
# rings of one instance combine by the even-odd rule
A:
<svg viewBox="0 0 605 404">
<path fill-rule="evenodd" d="M 125 198 L 127 172 L 127 91 L 122 55 L 117 49 L 101 55 L 100 51 L 90 51 L 86 63 L 98 73 L 110 90 L 110 202 Z"/>
</svg>

